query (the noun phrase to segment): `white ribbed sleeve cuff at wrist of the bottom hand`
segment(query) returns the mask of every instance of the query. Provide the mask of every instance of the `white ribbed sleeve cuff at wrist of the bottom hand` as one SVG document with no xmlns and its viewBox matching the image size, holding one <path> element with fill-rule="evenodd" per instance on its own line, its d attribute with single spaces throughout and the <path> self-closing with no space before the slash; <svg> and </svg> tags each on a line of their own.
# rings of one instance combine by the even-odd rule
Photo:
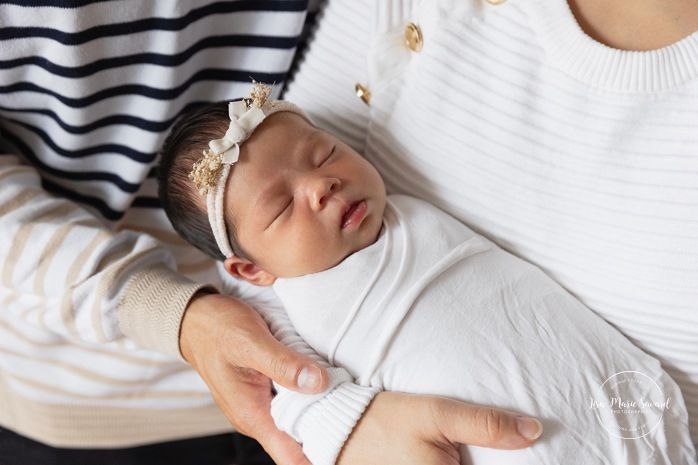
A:
<svg viewBox="0 0 698 465">
<path fill-rule="evenodd" d="M 315 465 L 334 465 L 349 434 L 378 393 L 377 388 L 343 383 L 299 419 L 303 452 Z"/>
</svg>

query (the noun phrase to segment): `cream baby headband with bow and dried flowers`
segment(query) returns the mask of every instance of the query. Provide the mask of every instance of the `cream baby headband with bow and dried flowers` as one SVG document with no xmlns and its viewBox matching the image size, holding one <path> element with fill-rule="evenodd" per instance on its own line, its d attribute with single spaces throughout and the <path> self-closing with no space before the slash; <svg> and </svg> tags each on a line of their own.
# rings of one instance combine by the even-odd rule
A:
<svg viewBox="0 0 698 465">
<path fill-rule="evenodd" d="M 230 102 L 228 116 L 230 125 L 221 139 L 208 143 L 204 158 L 192 167 L 189 179 L 194 181 L 201 195 L 206 196 L 208 221 L 211 224 L 213 237 L 221 253 L 230 258 L 234 256 L 230 245 L 228 228 L 225 224 L 225 186 L 233 165 L 240 157 L 240 145 L 245 142 L 264 121 L 264 118 L 281 111 L 296 113 L 309 122 L 310 118 L 296 105 L 283 100 L 267 101 L 271 88 L 265 84 L 257 84 L 249 98 Z M 312 123 L 312 122 L 311 122 Z"/>
</svg>

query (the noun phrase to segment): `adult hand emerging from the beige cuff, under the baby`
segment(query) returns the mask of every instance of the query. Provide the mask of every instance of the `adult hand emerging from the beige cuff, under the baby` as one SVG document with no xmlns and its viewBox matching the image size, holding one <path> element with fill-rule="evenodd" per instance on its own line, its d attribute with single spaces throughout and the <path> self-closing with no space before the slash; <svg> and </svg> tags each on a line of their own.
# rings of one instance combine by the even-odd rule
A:
<svg viewBox="0 0 698 465">
<path fill-rule="evenodd" d="M 278 342 L 252 308 L 205 292 L 187 307 L 180 350 L 235 429 L 259 441 L 279 465 L 310 465 L 300 445 L 271 418 L 269 378 L 288 389 L 317 393 L 328 382 L 317 362 Z"/>
</svg>

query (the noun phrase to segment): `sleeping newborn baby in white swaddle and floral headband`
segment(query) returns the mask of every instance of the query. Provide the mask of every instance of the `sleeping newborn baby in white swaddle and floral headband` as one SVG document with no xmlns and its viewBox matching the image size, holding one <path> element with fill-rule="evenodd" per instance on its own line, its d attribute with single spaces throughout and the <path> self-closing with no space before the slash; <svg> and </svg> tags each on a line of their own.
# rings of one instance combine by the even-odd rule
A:
<svg viewBox="0 0 698 465">
<path fill-rule="evenodd" d="M 273 285 L 320 355 L 363 385 L 541 419 L 532 447 L 462 446 L 462 463 L 695 461 L 681 393 L 657 360 L 538 268 L 424 201 L 386 195 L 299 108 L 258 96 L 177 123 L 161 194 L 185 239 Z M 295 395 L 280 393 L 272 413 L 302 442 L 281 414 Z"/>
</svg>

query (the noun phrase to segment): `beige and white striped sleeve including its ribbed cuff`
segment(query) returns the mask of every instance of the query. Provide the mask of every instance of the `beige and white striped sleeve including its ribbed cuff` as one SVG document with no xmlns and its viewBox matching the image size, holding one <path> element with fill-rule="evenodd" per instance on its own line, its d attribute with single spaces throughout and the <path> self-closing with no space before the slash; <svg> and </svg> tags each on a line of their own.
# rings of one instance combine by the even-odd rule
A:
<svg viewBox="0 0 698 465">
<path fill-rule="evenodd" d="M 202 285 L 174 271 L 167 248 L 48 194 L 16 157 L 0 156 L 0 182 L 0 300 L 8 310 L 38 310 L 32 324 L 70 340 L 127 336 L 180 357 L 181 318 Z"/>
</svg>

